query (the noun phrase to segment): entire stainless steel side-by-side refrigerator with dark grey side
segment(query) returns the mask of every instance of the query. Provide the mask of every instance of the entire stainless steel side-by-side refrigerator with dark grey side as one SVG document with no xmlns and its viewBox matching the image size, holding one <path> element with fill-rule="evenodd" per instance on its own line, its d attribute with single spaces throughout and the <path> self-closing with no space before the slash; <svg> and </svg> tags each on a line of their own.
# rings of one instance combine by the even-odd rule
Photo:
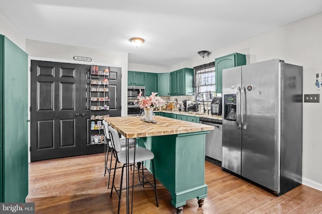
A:
<svg viewBox="0 0 322 214">
<path fill-rule="evenodd" d="M 222 168 L 277 195 L 302 182 L 303 68 L 274 59 L 222 72 Z"/>
</svg>

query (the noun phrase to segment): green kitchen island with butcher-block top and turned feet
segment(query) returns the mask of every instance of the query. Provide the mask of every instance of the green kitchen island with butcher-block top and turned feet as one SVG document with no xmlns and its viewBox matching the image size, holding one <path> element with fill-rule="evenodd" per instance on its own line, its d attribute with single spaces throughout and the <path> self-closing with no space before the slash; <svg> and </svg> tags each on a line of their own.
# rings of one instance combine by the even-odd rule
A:
<svg viewBox="0 0 322 214">
<path fill-rule="evenodd" d="M 154 153 L 155 176 L 170 191 L 177 213 L 182 213 L 183 205 L 192 198 L 197 198 L 201 207 L 207 196 L 205 135 L 214 127 L 162 116 L 155 116 L 156 124 L 140 118 L 105 120 L 126 138 L 136 138 L 137 146 Z M 149 161 L 144 165 L 152 171 Z"/>
</svg>

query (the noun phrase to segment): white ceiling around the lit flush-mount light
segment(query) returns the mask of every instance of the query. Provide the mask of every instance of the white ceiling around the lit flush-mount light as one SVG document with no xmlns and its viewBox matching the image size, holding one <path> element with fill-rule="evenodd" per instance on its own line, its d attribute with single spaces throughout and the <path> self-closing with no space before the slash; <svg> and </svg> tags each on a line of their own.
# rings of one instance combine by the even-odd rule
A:
<svg viewBox="0 0 322 214">
<path fill-rule="evenodd" d="M 129 54 L 128 63 L 175 65 L 322 11 L 321 0 L 0 0 L 31 40 Z M 138 48 L 129 39 L 145 40 Z"/>
</svg>

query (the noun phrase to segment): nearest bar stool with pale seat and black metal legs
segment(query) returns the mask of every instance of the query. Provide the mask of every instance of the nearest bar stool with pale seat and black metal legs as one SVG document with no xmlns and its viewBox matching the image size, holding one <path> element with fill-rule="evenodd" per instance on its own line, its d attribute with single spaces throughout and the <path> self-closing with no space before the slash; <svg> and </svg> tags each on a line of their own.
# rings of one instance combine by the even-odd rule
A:
<svg viewBox="0 0 322 214">
<path fill-rule="evenodd" d="M 114 174 L 113 174 L 113 180 L 112 180 L 112 188 L 111 188 L 111 194 L 110 197 L 112 197 L 112 192 L 113 192 L 113 188 L 116 191 L 116 194 L 119 198 L 119 204 L 118 204 L 118 213 L 120 212 L 120 202 L 121 202 L 121 193 L 123 189 L 126 188 L 130 188 L 130 186 L 126 187 L 126 188 L 122 188 L 122 183 L 123 183 L 123 172 L 124 172 L 124 166 L 127 166 L 126 163 L 126 151 L 125 150 L 121 150 L 121 144 L 120 144 L 120 138 L 118 137 L 118 132 L 112 128 L 111 126 L 108 126 L 108 130 L 109 130 L 109 134 L 110 134 L 110 140 L 111 140 L 111 144 L 113 146 L 113 149 L 116 153 L 116 160 L 119 163 L 123 163 L 122 165 L 122 173 L 121 173 L 121 183 L 120 183 L 120 188 L 116 189 L 115 184 L 114 184 L 114 180 L 115 180 L 115 171 L 116 171 L 116 164 L 117 162 L 115 162 L 115 167 L 114 167 Z M 140 147 L 134 147 L 134 148 L 129 148 L 128 150 L 129 153 L 129 164 L 134 162 L 134 153 L 135 153 L 135 162 L 141 162 L 142 164 L 142 182 L 131 186 L 131 188 L 138 186 L 138 185 L 142 185 L 144 188 L 144 184 L 150 184 L 150 186 L 154 189 L 154 193 L 155 193 L 155 200 L 156 200 L 156 206 L 158 207 L 158 200 L 157 200 L 157 192 L 156 192 L 156 181 L 155 181 L 155 172 L 154 172 L 154 163 L 153 163 L 153 158 L 154 158 L 154 154 L 153 152 L 151 152 L 150 150 L 146 149 L 146 148 L 140 148 Z M 146 160 L 151 160 L 151 164 L 152 164 L 152 169 L 153 169 L 153 180 L 154 180 L 154 185 L 152 185 L 152 183 L 146 178 L 144 177 L 144 173 L 143 173 L 143 161 Z M 134 176 L 134 175 L 133 175 Z M 144 181 L 144 179 L 146 181 Z M 133 197 L 132 197 L 133 198 Z"/>
</svg>

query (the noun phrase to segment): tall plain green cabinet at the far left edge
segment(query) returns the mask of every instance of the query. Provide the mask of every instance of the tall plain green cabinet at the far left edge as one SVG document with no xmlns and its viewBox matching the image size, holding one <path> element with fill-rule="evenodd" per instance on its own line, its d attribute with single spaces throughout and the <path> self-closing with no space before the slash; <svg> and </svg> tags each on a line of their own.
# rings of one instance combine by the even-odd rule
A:
<svg viewBox="0 0 322 214">
<path fill-rule="evenodd" d="M 0 202 L 25 202 L 29 152 L 28 55 L 3 35 L 0 35 L 0 93 Z"/>
</svg>

